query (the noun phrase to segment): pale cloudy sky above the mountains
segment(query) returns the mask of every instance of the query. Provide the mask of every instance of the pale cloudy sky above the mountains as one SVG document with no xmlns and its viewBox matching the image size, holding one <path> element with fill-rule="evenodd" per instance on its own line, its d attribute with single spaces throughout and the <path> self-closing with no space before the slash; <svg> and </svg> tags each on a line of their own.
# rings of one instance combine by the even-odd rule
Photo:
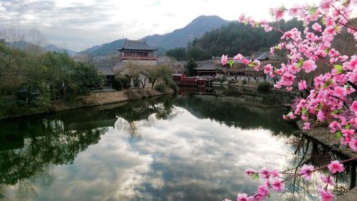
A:
<svg viewBox="0 0 357 201">
<path fill-rule="evenodd" d="M 201 15 L 236 20 L 245 13 L 254 19 L 270 20 L 269 8 L 318 1 L 0 0 L 0 28 L 36 29 L 46 38 L 46 44 L 82 51 L 120 38 L 136 40 L 169 33 Z"/>
</svg>

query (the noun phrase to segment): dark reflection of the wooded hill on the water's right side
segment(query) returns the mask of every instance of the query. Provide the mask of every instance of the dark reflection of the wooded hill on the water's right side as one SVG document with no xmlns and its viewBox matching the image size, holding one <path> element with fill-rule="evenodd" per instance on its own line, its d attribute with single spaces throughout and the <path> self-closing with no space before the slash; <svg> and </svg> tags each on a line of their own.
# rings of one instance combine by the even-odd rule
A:
<svg viewBox="0 0 357 201">
<path fill-rule="evenodd" d="M 238 97 L 191 96 L 178 99 L 176 105 L 186 108 L 198 118 L 210 118 L 228 126 L 243 129 L 265 128 L 274 134 L 286 133 L 296 129 L 286 123 L 281 116 L 281 107 L 257 107 L 242 102 Z"/>
</svg>

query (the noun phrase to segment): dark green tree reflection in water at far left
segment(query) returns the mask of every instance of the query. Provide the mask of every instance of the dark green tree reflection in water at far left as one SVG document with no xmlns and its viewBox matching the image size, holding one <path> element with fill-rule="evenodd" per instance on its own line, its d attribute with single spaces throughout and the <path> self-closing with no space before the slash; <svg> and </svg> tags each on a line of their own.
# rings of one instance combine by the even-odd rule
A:
<svg viewBox="0 0 357 201">
<path fill-rule="evenodd" d="M 73 163 L 78 153 L 89 145 L 98 143 L 100 135 L 107 130 L 107 128 L 93 128 L 64 131 L 64 124 L 59 120 L 40 120 L 24 122 L 24 124 L 26 130 L 33 131 L 24 138 L 24 146 L 16 150 L 0 152 L 0 183 L 7 185 L 18 183 L 21 187 L 19 190 L 31 189 L 24 182 L 19 182 L 35 174 L 41 174 L 42 182 L 51 182 L 52 178 L 44 173 L 46 164 Z M 21 132 L 21 130 L 12 132 Z"/>
</svg>

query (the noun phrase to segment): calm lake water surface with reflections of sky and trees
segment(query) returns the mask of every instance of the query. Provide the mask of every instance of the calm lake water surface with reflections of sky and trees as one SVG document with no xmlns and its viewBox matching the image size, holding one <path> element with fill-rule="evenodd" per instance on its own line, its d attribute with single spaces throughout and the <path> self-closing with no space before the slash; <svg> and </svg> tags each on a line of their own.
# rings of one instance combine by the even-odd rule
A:
<svg viewBox="0 0 357 201">
<path fill-rule="evenodd" d="M 338 158 L 291 135 L 296 128 L 281 120 L 284 109 L 272 106 L 281 95 L 220 90 L 0 121 L 0 196 L 222 200 L 256 189 L 247 168 L 294 172 Z M 335 191 L 353 184 L 348 174 L 338 175 Z M 271 199 L 316 200 L 313 180 L 291 180 Z"/>
</svg>

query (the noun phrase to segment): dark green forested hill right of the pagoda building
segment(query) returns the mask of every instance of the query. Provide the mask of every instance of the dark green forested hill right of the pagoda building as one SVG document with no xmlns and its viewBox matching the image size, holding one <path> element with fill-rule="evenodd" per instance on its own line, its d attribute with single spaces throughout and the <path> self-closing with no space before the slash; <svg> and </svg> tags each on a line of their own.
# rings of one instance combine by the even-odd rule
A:
<svg viewBox="0 0 357 201">
<path fill-rule="evenodd" d="M 276 24 L 276 23 L 275 23 Z M 301 21 L 280 21 L 281 30 L 288 31 L 293 27 L 303 30 Z M 193 58 L 196 61 L 210 59 L 212 56 L 221 56 L 221 53 L 243 53 L 250 55 L 255 51 L 274 46 L 281 35 L 276 32 L 265 33 L 262 28 L 253 29 L 248 24 L 233 22 L 219 29 L 209 31 L 201 38 L 196 38 L 187 48 L 173 48 L 166 52 L 178 61 Z"/>
</svg>

